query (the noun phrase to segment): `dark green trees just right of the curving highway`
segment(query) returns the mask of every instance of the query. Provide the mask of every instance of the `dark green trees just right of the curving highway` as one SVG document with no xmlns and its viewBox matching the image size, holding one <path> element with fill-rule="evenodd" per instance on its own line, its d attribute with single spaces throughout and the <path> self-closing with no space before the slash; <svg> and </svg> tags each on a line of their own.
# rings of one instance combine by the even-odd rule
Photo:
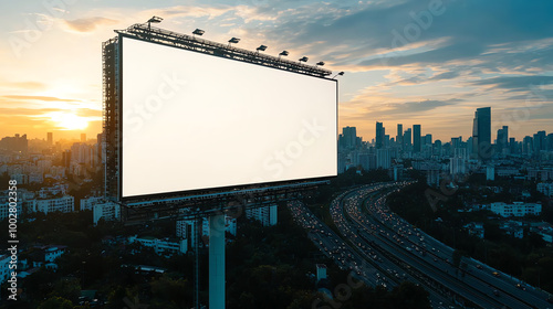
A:
<svg viewBox="0 0 553 309">
<path fill-rule="evenodd" d="M 457 248 L 452 256 L 452 263 L 457 267 L 461 269 L 463 267 L 461 256 L 472 256 L 503 273 L 520 277 L 533 286 L 540 285 L 542 288 L 553 291 L 553 265 L 539 263 L 544 256 L 552 256 L 553 248 L 546 246 L 540 235 L 529 233 L 526 230 L 524 238 L 515 238 L 499 228 L 498 216 L 490 211 L 458 212 L 466 203 L 509 199 L 509 194 L 493 193 L 491 190 L 480 188 L 478 185 L 480 182 L 481 179 L 472 177 L 468 180 L 470 188 L 461 187 L 451 195 L 444 194 L 446 199 L 436 204 L 436 212 L 432 211 L 425 196 L 425 191 L 428 188 L 424 183 L 408 185 L 400 192 L 390 194 L 388 206 L 436 239 Z M 508 187 L 508 182 L 504 180 L 494 184 Z M 515 182 L 513 185 L 528 188 L 531 184 Z M 502 194 L 504 196 L 501 196 Z M 553 213 L 553 207 L 549 203 L 543 204 L 546 215 L 550 214 L 547 211 Z M 441 222 L 436 221 L 438 217 Z M 470 235 L 462 227 L 469 222 L 483 223 L 484 239 Z M 540 274 L 551 274 L 551 276 L 541 276 Z"/>
</svg>

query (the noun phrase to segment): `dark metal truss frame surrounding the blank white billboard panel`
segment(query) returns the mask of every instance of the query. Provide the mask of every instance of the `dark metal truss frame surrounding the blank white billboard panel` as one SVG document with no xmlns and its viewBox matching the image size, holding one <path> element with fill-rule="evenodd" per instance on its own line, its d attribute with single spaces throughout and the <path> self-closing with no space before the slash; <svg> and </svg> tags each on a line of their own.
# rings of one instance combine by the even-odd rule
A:
<svg viewBox="0 0 553 309">
<path fill-rule="evenodd" d="M 267 54 L 260 54 L 259 52 L 252 52 L 243 49 L 238 49 L 230 45 L 225 45 L 216 43 L 212 41 L 199 39 L 196 36 L 176 33 L 154 26 L 148 26 L 145 24 L 134 24 L 126 30 L 115 31 L 117 35 L 103 44 L 103 56 L 104 56 L 104 132 L 106 132 L 106 174 L 105 174 L 105 195 L 107 199 L 115 201 L 121 204 L 150 204 L 153 202 L 159 203 L 165 200 L 182 200 L 188 201 L 190 199 L 205 200 L 202 196 L 212 196 L 213 194 L 230 194 L 230 195 L 243 195 L 244 192 L 254 190 L 261 191 L 279 191 L 282 188 L 290 189 L 291 187 L 296 187 L 299 191 L 307 190 L 307 188 L 316 188 L 321 184 L 328 183 L 328 181 L 336 175 L 317 177 L 317 178 L 302 178 L 294 180 L 283 180 L 283 181 L 267 181 L 260 183 L 246 183 L 239 185 L 228 185 L 228 187 L 217 187 L 217 188 L 205 188 L 195 190 L 181 190 L 171 192 L 161 192 L 154 194 L 142 194 L 123 196 L 123 38 L 139 40 L 147 43 L 159 44 L 168 47 L 175 47 L 180 50 L 188 50 L 197 53 L 208 54 L 212 56 L 219 56 L 228 60 L 246 62 L 250 64 L 260 65 L 263 67 L 275 68 L 281 71 L 288 71 L 294 74 L 309 75 L 311 77 L 323 78 L 325 81 L 331 81 L 335 83 L 336 87 L 336 98 L 335 98 L 335 149 L 337 151 L 337 117 L 338 117 L 338 83 L 335 78 L 328 78 L 326 76 L 331 75 L 332 72 L 324 70 L 319 66 L 302 64 L 301 62 L 292 62 L 289 60 L 282 60 L 280 57 L 270 56 Z M 112 55 L 111 60 L 106 60 L 106 49 L 109 45 L 115 45 L 116 56 Z M 113 46 L 112 46 L 113 47 Z M 115 81 L 106 81 L 106 62 L 114 61 L 112 63 L 112 68 L 115 70 Z M 113 72 L 112 72 L 113 75 Z M 112 77 L 113 79 L 113 77 Z M 116 90 L 115 96 L 108 97 L 106 95 L 109 89 L 107 83 L 115 82 Z M 113 85 L 112 85 L 113 87 Z M 112 92 L 113 93 L 113 92 Z M 108 104 L 108 100 L 112 100 Z M 111 109 L 111 117 L 106 117 L 107 108 Z M 115 114 L 115 115 L 113 115 Z M 108 115 L 109 116 L 109 115 Z M 115 116 L 115 117 L 114 117 Z M 116 120 L 115 120 L 115 119 Z M 109 124 L 111 122 L 111 124 Z M 114 130 L 114 127 L 116 128 Z M 111 130 L 109 130 L 111 129 Z M 109 134 L 116 137 L 108 136 Z M 112 145 L 109 145 L 112 142 Z M 115 143 L 115 145 L 113 145 Z M 116 158 L 108 158 L 109 156 Z M 108 163 L 111 167 L 108 167 Z M 336 174 L 337 174 L 337 161 Z M 112 174 L 108 174 L 112 173 Z M 115 173 L 115 175 L 113 174 Z"/>
</svg>

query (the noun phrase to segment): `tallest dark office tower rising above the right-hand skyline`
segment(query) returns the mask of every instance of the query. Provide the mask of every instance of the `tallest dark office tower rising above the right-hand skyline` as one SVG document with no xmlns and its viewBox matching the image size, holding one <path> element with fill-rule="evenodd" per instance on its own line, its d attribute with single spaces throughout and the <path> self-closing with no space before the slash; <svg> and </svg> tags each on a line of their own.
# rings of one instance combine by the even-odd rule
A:
<svg viewBox="0 0 553 309">
<path fill-rule="evenodd" d="M 491 107 L 477 108 L 472 121 L 472 153 L 480 160 L 491 157 Z"/>
</svg>

